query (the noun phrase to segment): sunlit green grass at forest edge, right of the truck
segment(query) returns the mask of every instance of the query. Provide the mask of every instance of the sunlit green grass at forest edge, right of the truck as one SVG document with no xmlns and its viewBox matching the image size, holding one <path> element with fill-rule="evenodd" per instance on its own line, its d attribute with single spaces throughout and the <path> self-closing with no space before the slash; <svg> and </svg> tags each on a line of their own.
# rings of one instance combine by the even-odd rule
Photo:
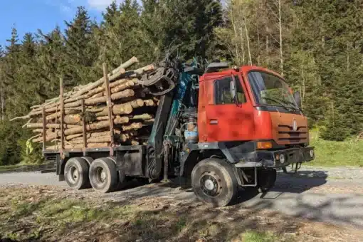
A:
<svg viewBox="0 0 363 242">
<path fill-rule="evenodd" d="M 314 166 L 363 167 L 363 140 L 346 140 L 343 142 L 322 140 L 318 132 L 310 132 L 310 145 L 315 147 Z"/>
</svg>

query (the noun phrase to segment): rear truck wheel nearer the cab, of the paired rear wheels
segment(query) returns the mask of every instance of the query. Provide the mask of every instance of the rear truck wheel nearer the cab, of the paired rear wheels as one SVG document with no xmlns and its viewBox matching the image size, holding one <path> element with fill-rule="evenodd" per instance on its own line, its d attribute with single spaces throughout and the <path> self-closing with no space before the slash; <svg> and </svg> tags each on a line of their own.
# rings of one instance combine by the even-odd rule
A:
<svg viewBox="0 0 363 242">
<path fill-rule="evenodd" d="M 117 187 L 116 165 L 108 158 L 95 159 L 90 165 L 90 184 L 95 191 L 107 193 Z"/>
</svg>

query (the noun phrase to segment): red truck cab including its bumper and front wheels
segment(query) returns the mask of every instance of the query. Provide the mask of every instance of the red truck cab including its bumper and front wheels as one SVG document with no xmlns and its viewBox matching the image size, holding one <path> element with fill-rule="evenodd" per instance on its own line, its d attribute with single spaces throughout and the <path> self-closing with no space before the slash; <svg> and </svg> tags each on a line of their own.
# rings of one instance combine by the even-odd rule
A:
<svg viewBox="0 0 363 242">
<path fill-rule="evenodd" d="M 226 189 L 229 183 L 268 191 L 275 184 L 276 169 L 286 172 L 290 164 L 298 169 L 314 159 L 298 96 L 282 76 L 258 66 L 214 70 L 199 77 L 196 149 L 206 155 L 191 173 L 199 198 L 226 205 L 236 193 Z"/>
</svg>

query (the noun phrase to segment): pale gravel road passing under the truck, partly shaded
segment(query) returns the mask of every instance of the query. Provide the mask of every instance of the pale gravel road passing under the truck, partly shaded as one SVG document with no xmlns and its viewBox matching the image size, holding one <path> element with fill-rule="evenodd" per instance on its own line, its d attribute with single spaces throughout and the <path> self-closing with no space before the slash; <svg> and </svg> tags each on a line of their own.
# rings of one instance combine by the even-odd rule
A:
<svg viewBox="0 0 363 242">
<path fill-rule="evenodd" d="M 0 185 L 34 184 L 66 186 L 53 173 L 0 174 Z M 92 189 L 85 191 L 93 194 Z M 140 196 L 165 196 L 179 201 L 196 199 L 191 189 L 174 184 L 147 184 L 103 195 L 105 200 L 125 201 Z M 289 216 L 363 228 L 363 168 L 302 167 L 298 174 L 279 174 L 272 191 L 239 193 L 236 208 L 273 209 Z"/>
</svg>

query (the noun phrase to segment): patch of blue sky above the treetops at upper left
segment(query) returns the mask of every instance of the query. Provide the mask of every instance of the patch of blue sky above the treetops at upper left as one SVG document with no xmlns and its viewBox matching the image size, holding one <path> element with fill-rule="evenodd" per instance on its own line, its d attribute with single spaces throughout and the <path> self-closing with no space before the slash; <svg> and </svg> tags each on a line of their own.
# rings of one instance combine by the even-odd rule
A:
<svg viewBox="0 0 363 242">
<path fill-rule="evenodd" d="M 0 45 L 11 36 L 16 26 L 19 40 L 26 32 L 35 33 L 40 28 L 48 33 L 56 25 L 64 29 L 64 20 L 73 19 L 77 6 L 85 6 L 92 19 L 100 20 L 102 11 L 112 0 L 0 0 Z M 121 0 L 117 0 L 120 2 Z"/>
</svg>

